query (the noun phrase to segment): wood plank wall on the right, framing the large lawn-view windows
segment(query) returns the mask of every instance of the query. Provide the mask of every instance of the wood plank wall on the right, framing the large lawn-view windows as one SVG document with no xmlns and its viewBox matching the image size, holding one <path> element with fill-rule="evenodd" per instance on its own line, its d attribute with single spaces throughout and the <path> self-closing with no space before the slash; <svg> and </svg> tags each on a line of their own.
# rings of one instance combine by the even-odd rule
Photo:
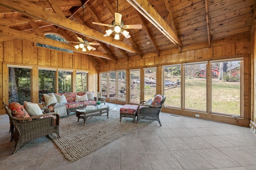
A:
<svg viewBox="0 0 256 170">
<path fill-rule="evenodd" d="M 158 57 L 156 53 L 144 55 L 142 59 L 139 57 L 131 57 L 129 61 L 125 59 L 119 60 L 117 63 L 108 63 L 107 65 L 100 65 L 99 72 L 113 71 L 113 70 L 128 70 L 135 68 L 154 67 L 161 68 L 164 65 L 180 64 L 180 63 L 193 63 L 200 61 L 211 61 L 220 59 L 232 59 L 238 57 L 244 57 L 244 113 L 243 119 L 234 117 L 224 117 L 220 115 L 198 113 L 195 111 L 180 111 L 179 109 L 163 108 L 162 111 L 167 113 L 174 113 L 180 115 L 186 115 L 194 117 L 193 115 L 200 114 L 203 119 L 211 119 L 216 121 L 222 121 L 235 125 L 249 126 L 249 120 L 252 119 L 252 108 L 250 104 L 251 98 L 251 65 L 250 65 L 250 41 L 249 35 L 243 34 L 235 37 L 228 37 L 211 41 L 212 47 L 208 47 L 208 43 L 202 43 L 197 45 L 190 45 L 183 47 L 180 53 L 178 49 L 171 49 L 169 51 L 161 51 Z M 161 69 L 158 69 L 161 71 Z M 157 82 L 161 81 L 161 74 L 156 77 Z M 157 84 L 157 94 L 162 94 L 162 88 Z M 112 100 L 112 102 L 114 102 Z M 118 101 L 117 101 L 118 102 Z M 127 102 L 126 102 L 127 103 Z"/>
</svg>

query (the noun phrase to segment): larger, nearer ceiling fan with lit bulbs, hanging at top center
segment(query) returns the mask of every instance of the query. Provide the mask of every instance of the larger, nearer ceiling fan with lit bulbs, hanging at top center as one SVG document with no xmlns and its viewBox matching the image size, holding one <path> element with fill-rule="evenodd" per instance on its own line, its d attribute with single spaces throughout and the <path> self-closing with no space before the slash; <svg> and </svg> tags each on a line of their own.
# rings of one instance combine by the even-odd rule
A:
<svg viewBox="0 0 256 170">
<path fill-rule="evenodd" d="M 103 25 L 103 26 L 108 26 L 111 27 L 111 29 L 106 30 L 106 36 L 110 36 L 111 33 L 115 32 L 116 35 L 114 39 L 120 39 L 119 33 L 124 35 L 126 38 L 130 38 L 131 36 L 129 35 L 129 32 L 124 30 L 124 29 L 141 29 L 142 25 L 141 24 L 136 24 L 136 25 L 124 25 L 124 22 L 122 21 L 122 14 L 118 13 L 118 0 L 117 0 L 117 12 L 115 12 L 115 20 L 112 21 L 111 25 L 105 24 L 105 23 L 98 23 L 98 22 L 92 22 L 93 24 L 97 25 Z"/>
</svg>

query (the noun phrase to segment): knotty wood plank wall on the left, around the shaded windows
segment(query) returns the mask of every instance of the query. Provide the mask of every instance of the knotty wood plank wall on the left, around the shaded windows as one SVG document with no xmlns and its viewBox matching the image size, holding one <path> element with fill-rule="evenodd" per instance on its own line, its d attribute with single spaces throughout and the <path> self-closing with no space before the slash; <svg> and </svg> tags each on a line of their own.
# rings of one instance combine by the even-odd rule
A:
<svg viewBox="0 0 256 170">
<path fill-rule="evenodd" d="M 14 39 L 0 42 L 0 113 L 3 110 L 3 102 L 8 102 L 8 68 L 7 64 L 32 66 L 32 102 L 38 103 L 38 67 L 88 71 L 88 91 L 97 92 L 98 67 L 90 60 L 90 56 L 81 53 L 66 53 L 49 50 L 43 47 L 35 47 L 29 41 Z M 72 84 L 75 92 L 76 82 Z"/>
</svg>

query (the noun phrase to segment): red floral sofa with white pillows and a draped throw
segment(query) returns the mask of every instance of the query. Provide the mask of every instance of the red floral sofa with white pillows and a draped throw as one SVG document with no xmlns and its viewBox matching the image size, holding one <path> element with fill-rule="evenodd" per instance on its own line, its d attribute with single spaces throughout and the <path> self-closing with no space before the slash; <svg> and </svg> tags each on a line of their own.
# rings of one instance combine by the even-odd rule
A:
<svg viewBox="0 0 256 170">
<path fill-rule="evenodd" d="M 55 99 L 49 100 L 49 98 L 51 97 L 56 97 L 57 101 L 55 101 Z M 67 115 L 69 115 L 70 112 L 75 112 L 78 108 L 82 108 L 88 105 L 96 105 L 96 101 L 94 99 L 94 92 L 68 92 L 63 94 L 50 93 L 44 94 L 42 96 L 43 106 L 50 109 L 51 112 L 54 112 L 54 104 L 56 104 L 57 102 L 65 105 Z"/>
</svg>

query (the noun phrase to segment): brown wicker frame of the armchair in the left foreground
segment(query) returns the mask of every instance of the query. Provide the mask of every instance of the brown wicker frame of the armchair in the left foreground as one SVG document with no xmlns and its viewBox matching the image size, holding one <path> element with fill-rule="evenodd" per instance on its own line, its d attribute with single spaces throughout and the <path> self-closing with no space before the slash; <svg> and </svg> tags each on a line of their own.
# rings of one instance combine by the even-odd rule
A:
<svg viewBox="0 0 256 170">
<path fill-rule="evenodd" d="M 59 123 L 60 123 L 60 115 L 58 113 L 50 113 L 48 108 L 42 107 L 43 115 L 17 118 L 12 116 L 12 110 L 8 107 L 7 104 L 4 104 L 4 109 L 6 110 L 6 114 L 9 116 L 11 123 L 11 131 L 12 131 L 12 139 L 11 141 L 15 141 L 15 148 L 13 154 L 17 152 L 20 145 L 22 143 L 37 139 L 39 137 L 43 137 L 49 135 L 51 133 L 56 133 L 58 137 L 59 135 Z M 54 117 L 56 116 L 56 124 L 54 125 Z M 41 118 L 42 117 L 42 118 Z"/>
</svg>

